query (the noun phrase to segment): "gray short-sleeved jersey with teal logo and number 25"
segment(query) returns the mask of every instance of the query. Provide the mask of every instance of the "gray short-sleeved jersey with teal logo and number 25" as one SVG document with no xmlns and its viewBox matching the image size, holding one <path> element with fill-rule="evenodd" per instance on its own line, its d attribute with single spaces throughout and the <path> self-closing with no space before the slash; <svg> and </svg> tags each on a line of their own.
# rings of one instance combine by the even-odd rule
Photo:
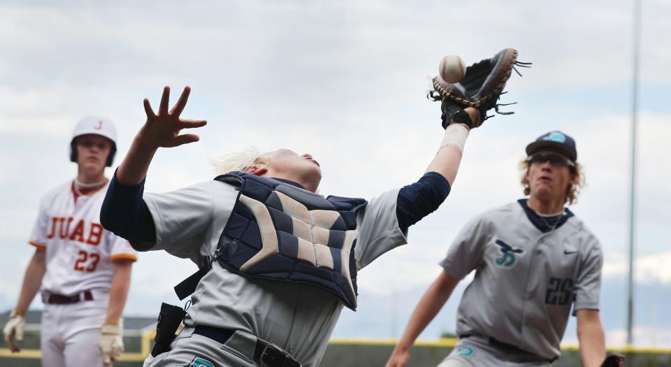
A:
<svg viewBox="0 0 671 367">
<path fill-rule="evenodd" d="M 456 332 L 489 336 L 553 359 L 575 310 L 599 308 L 603 257 L 577 217 L 542 233 L 519 203 L 471 220 L 440 265 L 461 280 L 475 270 L 459 305 Z"/>
</svg>

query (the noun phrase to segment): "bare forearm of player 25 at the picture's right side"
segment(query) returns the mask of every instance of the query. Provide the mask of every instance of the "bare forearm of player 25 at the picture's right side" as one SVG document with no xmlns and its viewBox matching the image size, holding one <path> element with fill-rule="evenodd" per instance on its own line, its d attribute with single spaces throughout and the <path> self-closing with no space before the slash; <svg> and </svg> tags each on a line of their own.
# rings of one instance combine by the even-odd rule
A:
<svg viewBox="0 0 671 367">
<path fill-rule="evenodd" d="M 598 311 L 590 313 L 589 317 L 578 319 L 578 343 L 583 366 L 598 367 L 606 354 L 605 337 Z"/>
</svg>

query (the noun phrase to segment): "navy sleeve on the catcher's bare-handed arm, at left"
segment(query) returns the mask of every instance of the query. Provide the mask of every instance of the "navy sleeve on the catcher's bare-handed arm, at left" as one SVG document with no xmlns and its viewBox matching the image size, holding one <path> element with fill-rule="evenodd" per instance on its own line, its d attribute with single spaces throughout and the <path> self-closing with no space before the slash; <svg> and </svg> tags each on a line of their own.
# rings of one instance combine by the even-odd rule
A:
<svg viewBox="0 0 671 367">
<path fill-rule="evenodd" d="M 115 172 L 100 210 L 100 223 L 110 232 L 126 238 L 138 251 L 149 250 L 156 243 L 156 227 L 147 203 L 142 199 L 145 181 L 126 186 Z"/>
</svg>

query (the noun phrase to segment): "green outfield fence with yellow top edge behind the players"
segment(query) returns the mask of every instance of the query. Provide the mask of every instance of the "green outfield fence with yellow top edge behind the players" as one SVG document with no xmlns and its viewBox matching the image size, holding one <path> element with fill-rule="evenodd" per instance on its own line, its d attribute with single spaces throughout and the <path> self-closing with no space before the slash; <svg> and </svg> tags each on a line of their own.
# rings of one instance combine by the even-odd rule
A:
<svg viewBox="0 0 671 367">
<path fill-rule="evenodd" d="M 126 352 L 115 367 L 142 366 L 152 347 L 153 332 L 124 331 Z M 456 339 L 440 339 L 435 342 L 418 342 L 412 349 L 412 367 L 435 367 L 452 350 Z M 333 339 L 326 349 L 322 367 L 375 367 L 384 366 L 396 340 Z M 41 366 L 40 335 L 38 330 L 27 330 L 20 353 L 12 354 L 0 341 L 0 366 Z M 671 367 L 671 349 L 626 347 L 609 350 L 626 355 L 626 366 Z M 582 366 L 577 347 L 563 348 L 562 357 L 554 367 Z M 224 367 L 224 366 L 217 366 Z M 489 367 L 489 366 L 488 366 Z"/>
</svg>

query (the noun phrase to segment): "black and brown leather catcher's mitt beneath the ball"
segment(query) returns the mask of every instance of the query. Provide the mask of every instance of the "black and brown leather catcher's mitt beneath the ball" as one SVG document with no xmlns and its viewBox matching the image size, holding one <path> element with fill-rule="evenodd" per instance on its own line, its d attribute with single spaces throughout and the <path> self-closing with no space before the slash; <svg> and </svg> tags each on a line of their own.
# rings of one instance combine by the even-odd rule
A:
<svg viewBox="0 0 671 367">
<path fill-rule="evenodd" d="M 467 124 L 471 129 L 479 127 L 484 120 L 488 119 L 487 111 L 494 108 L 496 113 L 510 115 L 512 112 L 500 112 L 498 106 L 500 94 L 503 94 L 505 82 L 510 78 L 514 70 L 521 76 L 515 66 L 531 67 L 531 63 L 518 62 L 517 50 L 506 48 L 498 52 L 491 59 L 484 59 L 466 68 L 466 75 L 454 84 L 446 82 L 440 75 L 433 78 L 432 90 L 428 97 L 433 101 L 442 101 L 441 110 L 442 127 L 447 127 L 450 122 L 461 122 Z M 480 113 L 479 121 L 473 123 L 464 108 L 477 108 Z"/>
</svg>

